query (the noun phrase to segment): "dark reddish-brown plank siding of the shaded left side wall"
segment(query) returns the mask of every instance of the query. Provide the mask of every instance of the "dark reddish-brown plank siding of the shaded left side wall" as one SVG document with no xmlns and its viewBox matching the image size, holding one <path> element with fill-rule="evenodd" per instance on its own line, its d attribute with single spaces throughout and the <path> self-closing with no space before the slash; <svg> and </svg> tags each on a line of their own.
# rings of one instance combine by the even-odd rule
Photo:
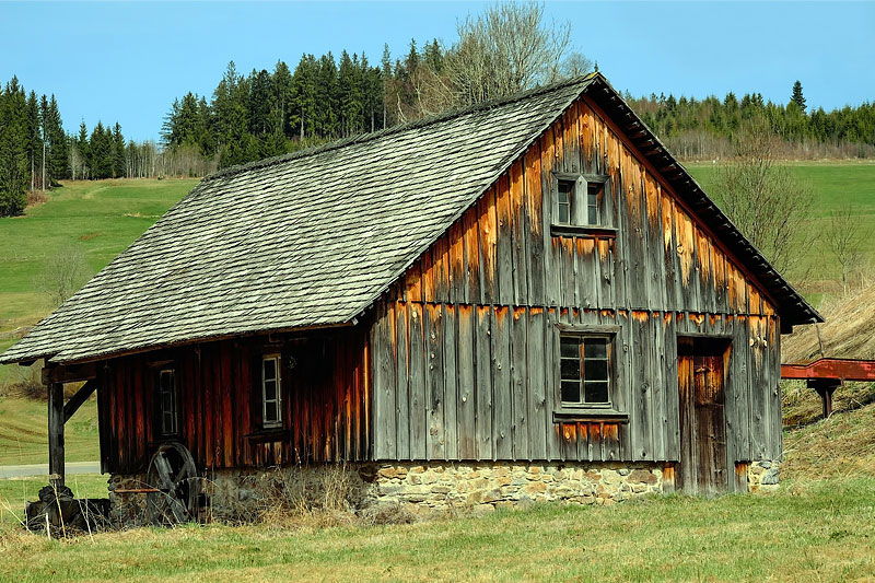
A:
<svg viewBox="0 0 875 583">
<path fill-rule="evenodd" d="M 392 322 L 394 318 L 382 318 Z M 378 346 L 392 347 L 394 336 Z M 138 473 L 148 467 L 162 440 L 182 441 L 201 470 L 275 464 L 364 460 L 371 457 L 370 372 L 373 341 L 362 327 L 266 345 L 266 338 L 184 347 L 108 361 L 98 407 L 102 459 L 108 471 Z M 397 342 L 396 342 L 397 343 Z M 259 432 L 260 358 L 281 353 L 283 428 Z M 377 418 L 397 419 L 396 354 L 381 354 L 386 369 L 374 372 L 383 393 L 374 399 Z M 289 369 L 289 359 L 294 368 Z M 380 361 L 380 360 L 378 360 Z M 176 376 L 178 434 L 161 436 L 155 378 L 161 369 Z M 377 376 L 378 375 L 378 376 Z M 406 376 L 405 376 L 406 377 Z M 393 387 L 386 392 L 384 387 Z M 378 388 L 380 390 L 380 388 Z M 390 403 L 392 410 L 383 407 Z M 386 428 L 389 428 L 388 430 Z M 408 425 L 404 425 L 407 429 Z M 395 447 L 394 424 L 381 424 L 375 438 Z M 382 433 L 381 433 L 382 432 Z M 104 434 L 106 433 L 106 434 Z M 394 455 L 409 455 L 402 447 Z"/>
</svg>

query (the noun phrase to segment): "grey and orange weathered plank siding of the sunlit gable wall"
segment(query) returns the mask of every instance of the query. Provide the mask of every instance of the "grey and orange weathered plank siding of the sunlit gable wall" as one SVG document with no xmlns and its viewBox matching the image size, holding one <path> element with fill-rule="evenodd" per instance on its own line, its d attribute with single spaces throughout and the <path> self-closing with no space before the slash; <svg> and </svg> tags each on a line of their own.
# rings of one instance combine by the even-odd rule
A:
<svg viewBox="0 0 875 583">
<path fill-rule="evenodd" d="M 375 459 L 676 462 L 678 335 L 732 340 L 730 462 L 781 455 L 774 306 L 643 160 L 582 97 L 381 300 Z M 551 235 L 553 172 L 609 177 L 616 235 Z M 619 327 L 628 423 L 555 422 L 559 323 Z"/>
</svg>

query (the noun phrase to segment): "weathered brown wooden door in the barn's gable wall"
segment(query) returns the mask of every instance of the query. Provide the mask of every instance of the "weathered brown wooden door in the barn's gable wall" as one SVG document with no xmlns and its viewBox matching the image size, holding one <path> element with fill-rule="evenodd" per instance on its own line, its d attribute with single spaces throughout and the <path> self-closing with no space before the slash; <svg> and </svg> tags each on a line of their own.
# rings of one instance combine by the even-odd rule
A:
<svg viewBox="0 0 875 583">
<path fill-rule="evenodd" d="M 724 386 L 726 342 L 678 338 L 680 460 L 676 483 L 695 495 L 728 489 Z"/>
</svg>

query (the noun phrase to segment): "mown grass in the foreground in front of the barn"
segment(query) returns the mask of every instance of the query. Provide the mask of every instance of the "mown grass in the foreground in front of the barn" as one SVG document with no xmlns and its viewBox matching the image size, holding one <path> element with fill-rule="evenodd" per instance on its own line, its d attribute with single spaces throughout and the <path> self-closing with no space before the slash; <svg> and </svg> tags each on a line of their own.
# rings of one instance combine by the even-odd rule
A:
<svg viewBox="0 0 875 583">
<path fill-rule="evenodd" d="M 772 495 L 545 505 L 412 525 L 137 529 L 49 541 L 7 527 L 0 579 L 761 580 L 875 573 L 875 479 Z"/>
</svg>

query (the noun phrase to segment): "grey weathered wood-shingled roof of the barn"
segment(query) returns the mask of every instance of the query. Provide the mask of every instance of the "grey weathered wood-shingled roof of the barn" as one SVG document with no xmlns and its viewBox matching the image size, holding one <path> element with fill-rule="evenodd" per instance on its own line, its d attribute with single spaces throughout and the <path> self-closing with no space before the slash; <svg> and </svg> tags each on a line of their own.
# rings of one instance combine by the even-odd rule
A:
<svg viewBox="0 0 875 583">
<path fill-rule="evenodd" d="M 623 103 L 595 73 L 208 176 L 0 363 L 349 323 L 584 92 L 614 110 Z M 655 140 L 646 127 L 644 137 Z M 673 182 L 702 208 L 704 194 L 677 166 Z M 712 228 L 771 277 L 759 252 L 702 200 Z M 793 323 L 819 319 L 780 276 L 769 277 Z"/>
</svg>

